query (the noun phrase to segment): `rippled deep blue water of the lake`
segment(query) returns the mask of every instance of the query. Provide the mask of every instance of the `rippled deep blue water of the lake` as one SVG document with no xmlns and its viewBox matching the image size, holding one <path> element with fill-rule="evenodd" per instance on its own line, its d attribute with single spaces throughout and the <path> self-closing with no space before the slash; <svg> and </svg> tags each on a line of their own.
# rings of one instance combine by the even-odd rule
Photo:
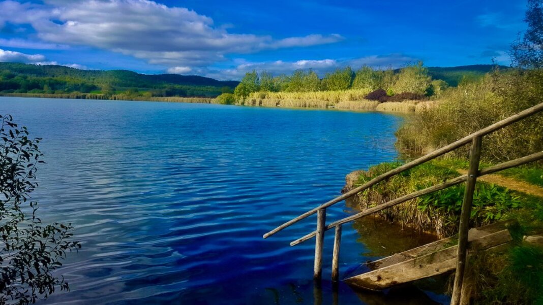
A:
<svg viewBox="0 0 543 305">
<path fill-rule="evenodd" d="M 313 241 L 288 245 L 314 230 L 314 217 L 262 235 L 337 196 L 350 171 L 395 159 L 394 131 L 402 120 L 383 113 L 22 98 L 0 98 L 0 112 L 43 138 L 47 164 L 33 199 L 42 220 L 71 222 L 83 244 L 61 269 L 70 293 L 43 303 L 94 305 L 305 304 L 320 294 L 331 303 L 331 232 L 322 290 L 313 287 Z M 349 213 L 340 203 L 327 218 Z M 341 251 L 342 277 L 371 258 L 350 225 Z M 341 284 L 337 296 L 339 303 L 363 303 L 363 295 Z"/>
</svg>

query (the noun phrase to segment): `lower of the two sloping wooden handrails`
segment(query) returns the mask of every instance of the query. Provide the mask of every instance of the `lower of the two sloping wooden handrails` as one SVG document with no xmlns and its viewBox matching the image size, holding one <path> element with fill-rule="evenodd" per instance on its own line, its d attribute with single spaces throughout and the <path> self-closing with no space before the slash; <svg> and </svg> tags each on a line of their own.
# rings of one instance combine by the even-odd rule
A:
<svg viewBox="0 0 543 305">
<path fill-rule="evenodd" d="M 498 165 L 494 165 L 494 166 L 484 168 L 481 171 L 479 171 L 479 174 L 477 176 L 478 177 L 485 176 L 485 175 L 495 173 L 495 172 L 498 172 L 498 171 L 507 170 L 507 168 L 512 168 L 512 167 L 515 167 L 515 166 L 531 163 L 531 162 L 538 161 L 538 160 L 543 160 L 543 151 L 538 152 L 538 153 L 533 153 L 531 155 L 527 155 L 526 157 L 522 157 L 522 158 L 519 158 L 519 159 L 507 161 L 507 162 L 504 162 L 504 163 L 501 163 L 501 164 L 498 164 Z M 411 200 L 411 199 L 420 197 L 420 196 L 428 194 L 428 193 L 443 190 L 443 189 L 446 189 L 447 187 L 450 187 L 450 186 L 453 186 L 453 185 L 456 185 L 456 184 L 459 184 L 459 183 L 463 183 L 464 181 L 466 181 L 467 178 L 468 178 L 468 174 L 465 174 L 465 175 L 456 177 L 454 179 L 451 179 L 449 181 L 446 181 L 446 182 L 444 182 L 442 184 L 427 187 L 426 189 L 419 190 L 419 191 L 416 191 L 416 192 L 412 192 L 412 193 L 409 193 L 407 195 L 404 195 L 404 196 L 398 197 L 396 199 L 390 200 L 387 203 L 383 203 L 383 204 L 371 207 L 370 209 L 367 209 L 367 210 L 364 210 L 362 212 L 356 213 L 355 215 L 351 215 L 349 217 L 345 217 L 343 219 L 337 220 L 337 221 L 327 225 L 325 227 L 325 231 L 330 230 L 330 229 L 334 228 L 335 226 L 342 225 L 342 224 L 345 224 L 345 223 L 348 223 L 348 222 L 352 222 L 353 220 L 362 218 L 364 216 L 368 216 L 368 215 L 374 214 L 376 212 L 382 211 L 384 209 L 388 209 L 391 206 L 395 206 L 397 204 L 406 202 L 407 200 Z M 300 244 L 302 242 L 305 242 L 308 239 L 311 239 L 312 237 L 314 237 L 315 234 L 316 234 L 316 232 L 313 231 L 313 232 L 307 234 L 304 237 L 300 237 L 300 238 L 296 239 L 295 241 L 291 242 L 291 246 L 294 246 L 294 245 Z"/>
</svg>

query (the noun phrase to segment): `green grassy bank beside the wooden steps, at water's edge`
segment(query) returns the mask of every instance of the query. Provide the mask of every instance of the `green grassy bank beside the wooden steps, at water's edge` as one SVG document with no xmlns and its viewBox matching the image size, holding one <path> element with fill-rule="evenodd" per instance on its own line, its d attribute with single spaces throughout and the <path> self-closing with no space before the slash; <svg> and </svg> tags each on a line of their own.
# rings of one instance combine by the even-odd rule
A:
<svg viewBox="0 0 543 305">
<path fill-rule="evenodd" d="M 383 163 L 355 174 L 351 187 L 400 166 Z M 350 206 L 365 210 L 413 191 L 443 183 L 460 175 L 457 168 L 465 161 L 432 160 L 394 176 L 358 194 Z M 487 166 L 487 165 L 483 165 Z M 519 167 L 504 176 L 541 184 L 538 167 Z M 439 237 L 458 232 L 464 184 L 426 194 L 420 198 L 381 211 L 378 216 L 396 225 L 409 226 Z M 511 223 L 514 242 L 503 252 L 471 252 L 472 304 L 541 304 L 543 302 L 543 247 L 523 242 L 524 236 L 543 234 L 543 198 L 517 192 L 507 187 L 478 181 L 473 199 L 470 226 L 497 221 Z M 513 280 L 512 280 L 513 279 Z"/>
</svg>

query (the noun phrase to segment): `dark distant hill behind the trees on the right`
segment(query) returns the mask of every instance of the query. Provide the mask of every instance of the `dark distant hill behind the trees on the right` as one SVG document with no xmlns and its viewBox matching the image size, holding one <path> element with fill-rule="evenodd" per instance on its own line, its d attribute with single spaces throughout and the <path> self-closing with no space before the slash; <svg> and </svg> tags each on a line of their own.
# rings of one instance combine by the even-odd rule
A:
<svg viewBox="0 0 543 305">
<path fill-rule="evenodd" d="M 458 67 L 428 67 L 428 74 L 434 80 L 444 80 L 450 86 L 456 87 L 462 80 L 473 81 L 480 79 L 496 66 L 494 64 L 472 64 L 471 66 Z M 497 66 L 501 70 L 509 69 L 506 66 Z"/>
</svg>

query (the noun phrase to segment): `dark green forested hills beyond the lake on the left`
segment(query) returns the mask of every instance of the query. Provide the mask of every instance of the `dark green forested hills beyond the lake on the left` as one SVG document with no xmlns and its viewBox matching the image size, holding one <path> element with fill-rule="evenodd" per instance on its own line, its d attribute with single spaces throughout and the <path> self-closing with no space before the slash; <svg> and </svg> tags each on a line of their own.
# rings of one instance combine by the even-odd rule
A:
<svg viewBox="0 0 543 305">
<path fill-rule="evenodd" d="M 149 92 L 153 96 L 206 96 L 230 92 L 237 81 L 197 75 L 147 75 L 128 70 L 80 70 L 65 66 L 0 62 L 3 93 Z"/>
</svg>

